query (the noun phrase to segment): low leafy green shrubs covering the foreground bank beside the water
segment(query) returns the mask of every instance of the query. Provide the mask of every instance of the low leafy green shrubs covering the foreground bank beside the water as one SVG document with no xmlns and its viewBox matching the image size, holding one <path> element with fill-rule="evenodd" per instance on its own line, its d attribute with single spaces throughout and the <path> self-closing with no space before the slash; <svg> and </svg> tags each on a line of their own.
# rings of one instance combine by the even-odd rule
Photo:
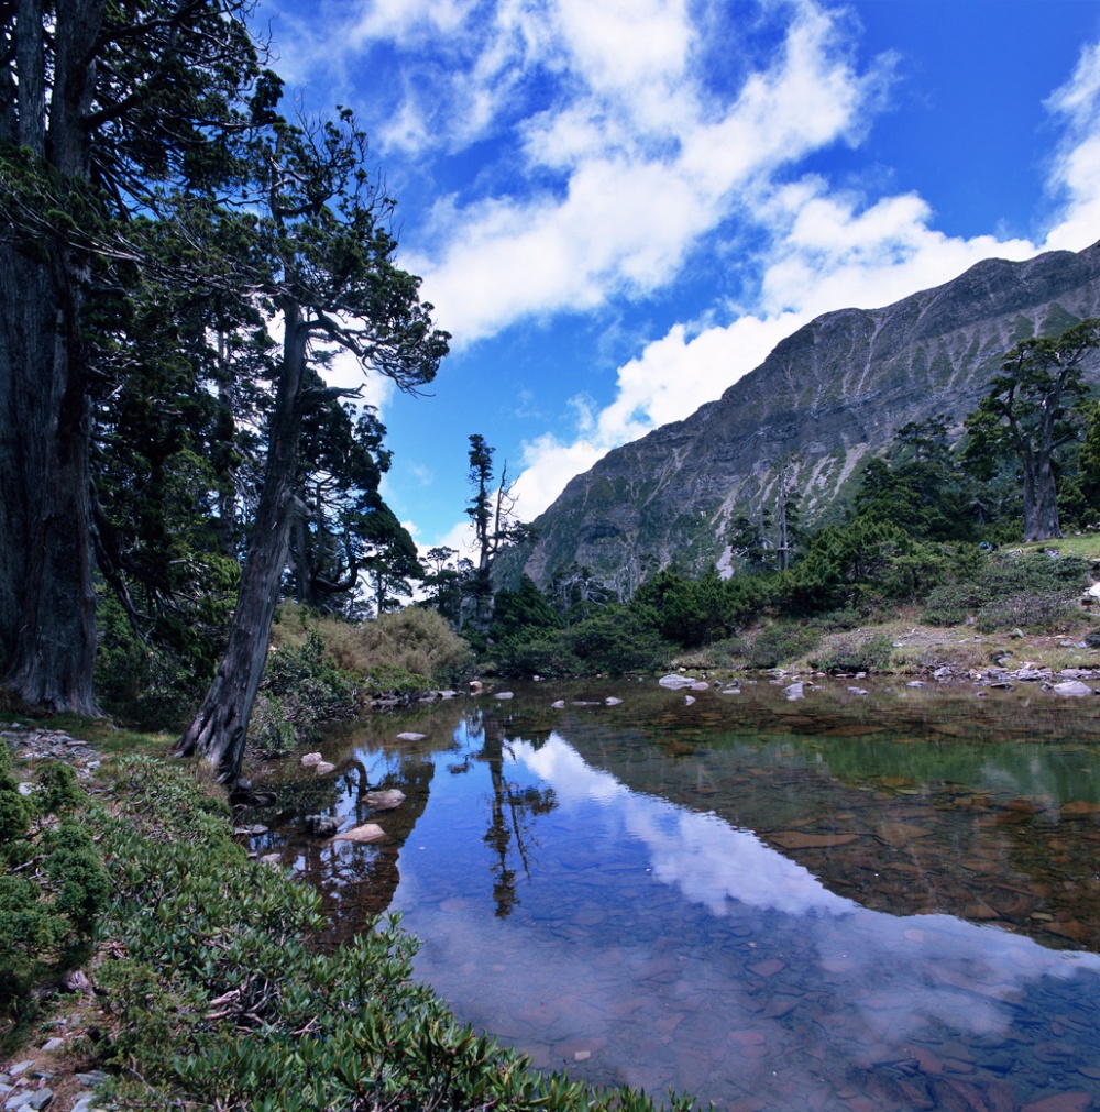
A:
<svg viewBox="0 0 1100 1112">
<path fill-rule="evenodd" d="M 126 957 L 99 974 L 118 1026 L 110 1054 L 141 1079 L 115 1083 L 120 1106 L 653 1112 L 640 1093 L 534 1073 L 459 1025 L 413 980 L 416 943 L 396 919 L 315 952 L 317 894 L 248 862 L 182 770 L 138 758 L 122 776 L 103 844 Z"/>
</svg>

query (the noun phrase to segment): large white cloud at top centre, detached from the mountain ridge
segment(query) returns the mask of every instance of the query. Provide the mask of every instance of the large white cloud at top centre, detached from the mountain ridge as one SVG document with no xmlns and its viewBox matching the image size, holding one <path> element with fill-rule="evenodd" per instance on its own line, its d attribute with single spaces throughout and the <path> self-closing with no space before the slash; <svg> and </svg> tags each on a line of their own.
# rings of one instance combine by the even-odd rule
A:
<svg viewBox="0 0 1100 1112">
<path fill-rule="evenodd" d="M 831 17 L 810 4 L 729 102 L 691 77 L 681 4 L 578 11 L 548 9 L 576 91 L 523 125 L 522 188 L 437 205 L 420 236 L 432 249 L 408 259 L 459 346 L 668 284 L 752 182 L 864 127 L 883 80 L 855 72 Z M 532 192 L 548 172 L 556 185 Z"/>
</svg>

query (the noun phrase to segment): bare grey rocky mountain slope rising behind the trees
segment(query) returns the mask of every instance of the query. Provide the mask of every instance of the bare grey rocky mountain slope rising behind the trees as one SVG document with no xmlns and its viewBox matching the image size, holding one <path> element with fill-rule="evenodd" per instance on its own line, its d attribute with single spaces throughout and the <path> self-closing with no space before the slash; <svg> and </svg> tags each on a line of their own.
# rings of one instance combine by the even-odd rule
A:
<svg viewBox="0 0 1100 1112">
<path fill-rule="evenodd" d="M 732 517 L 774 500 L 779 468 L 820 519 L 869 453 L 906 421 L 960 426 L 1004 353 L 1100 316 L 1100 244 L 1027 262 L 988 259 L 883 309 L 817 317 L 686 420 L 574 478 L 517 554 L 536 583 L 574 560 L 630 594 L 673 558 L 729 560 Z"/>
</svg>

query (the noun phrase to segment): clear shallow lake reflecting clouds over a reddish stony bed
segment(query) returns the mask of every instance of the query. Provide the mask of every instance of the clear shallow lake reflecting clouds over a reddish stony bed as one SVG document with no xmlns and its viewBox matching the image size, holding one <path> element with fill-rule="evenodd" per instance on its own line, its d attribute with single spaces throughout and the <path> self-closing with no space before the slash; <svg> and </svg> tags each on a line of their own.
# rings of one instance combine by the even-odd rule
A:
<svg viewBox="0 0 1100 1112">
<path fill-rule="evenodd" d="M 326 943 L 399 912 L 417 975 L 538 1069 L 739 1112 L 1100 1109 L 1097 703 L 860 682 L 374 714 L 335 772 L 270 766 L 251 848 Z"/>
</svg>

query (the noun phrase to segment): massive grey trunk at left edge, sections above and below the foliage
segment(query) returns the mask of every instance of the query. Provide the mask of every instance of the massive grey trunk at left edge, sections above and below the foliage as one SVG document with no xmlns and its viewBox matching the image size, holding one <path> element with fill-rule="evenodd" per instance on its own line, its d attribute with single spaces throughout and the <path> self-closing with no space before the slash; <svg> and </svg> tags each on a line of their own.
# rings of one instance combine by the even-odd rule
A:
<svg viewBox="0 0 1100 1112">
<path fill-rule="evenodd" d="M 62 14 L 63 12 L 63 14 Z M 18 86 L 0 133 L 86 178 L 91 43 L 103 0 L 75 0 L 50 28 L 48 121 L 41 0 L 19 0 Z M 48 127 L 47 127 L 48 122 Z M 26 702 L 98 715 L 91 414 L 80 336 L 82 269 L 59 244 L 20 249 L 0 228 L 0 647 L 2 683 Z"/>
</svg>

